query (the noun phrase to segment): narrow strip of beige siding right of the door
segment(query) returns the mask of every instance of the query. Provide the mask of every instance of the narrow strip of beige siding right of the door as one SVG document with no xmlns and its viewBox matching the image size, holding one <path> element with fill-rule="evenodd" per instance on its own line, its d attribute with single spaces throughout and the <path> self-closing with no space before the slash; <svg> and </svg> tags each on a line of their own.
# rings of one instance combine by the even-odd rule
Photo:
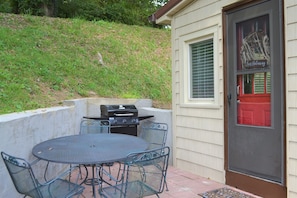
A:
<svg viewBox="0 0 297 198">
<path fill-rule="evenodd" d="M 284 1 L 288 197 L 297 197 L 297 2 Z"/>
</svg>

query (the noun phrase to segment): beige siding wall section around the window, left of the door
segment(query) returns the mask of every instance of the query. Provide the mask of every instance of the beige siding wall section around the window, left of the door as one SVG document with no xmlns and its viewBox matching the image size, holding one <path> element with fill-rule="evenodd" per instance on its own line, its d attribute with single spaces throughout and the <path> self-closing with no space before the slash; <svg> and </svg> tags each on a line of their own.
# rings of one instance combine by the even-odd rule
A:
<svg viewBox="0 0 297 198">
<path fill-rule="evenodd" d="M 229 1 L 230 2 L 230 1 Z M 234 1 L 233 1 L 234 2 Z M 194 1 L 172 19 L 174 165 L 215 181 L 225 182 L 222 14 L 227 1 Z M 232 2 L 231 2 L 232 3 Z M 185 105 L 187 52 L 184 38 L 214 30 L 215 105 Z M 195 39 L 195 36 L 194 38 Z M 186 92 L 186 93 L 185 93 Z"/>
</svg>

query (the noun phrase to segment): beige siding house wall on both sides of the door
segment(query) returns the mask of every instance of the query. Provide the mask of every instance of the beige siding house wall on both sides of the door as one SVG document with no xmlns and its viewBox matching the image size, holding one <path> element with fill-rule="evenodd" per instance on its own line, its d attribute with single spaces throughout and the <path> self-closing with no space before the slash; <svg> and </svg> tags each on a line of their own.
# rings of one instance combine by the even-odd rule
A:
<svg viewBox="0 0 297 198">
<path fill-rule="evenodd" d="M 171 16 L 172 108 L 174 165 L 194 174 L 225 182 L 224 171 L 224 74 L 222 8 L 237 0 L 196 0 Z M 213 32 L 216 101 L 187 104 L 185 43 Z M 297 197 L 297 1 L 284 1 L 284 61 L 286 111 L 287 197 Z"/>
</svg>

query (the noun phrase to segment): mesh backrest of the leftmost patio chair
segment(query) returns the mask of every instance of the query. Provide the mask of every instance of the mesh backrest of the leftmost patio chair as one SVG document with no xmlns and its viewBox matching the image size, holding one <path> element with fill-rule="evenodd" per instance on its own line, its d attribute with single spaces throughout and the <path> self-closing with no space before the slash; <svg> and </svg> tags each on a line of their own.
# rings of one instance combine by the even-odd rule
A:
<svg viewBox="0 0 297 198">
<path fill-rule="evenodd" d="M 13 157 L 4 152 L 1 152 L 1 156 L 16 190 L 20 194 L 41 198 L 41 193 L 36 188 L 39 184 L 31 165 L 24 159 Z"/>
</svg>

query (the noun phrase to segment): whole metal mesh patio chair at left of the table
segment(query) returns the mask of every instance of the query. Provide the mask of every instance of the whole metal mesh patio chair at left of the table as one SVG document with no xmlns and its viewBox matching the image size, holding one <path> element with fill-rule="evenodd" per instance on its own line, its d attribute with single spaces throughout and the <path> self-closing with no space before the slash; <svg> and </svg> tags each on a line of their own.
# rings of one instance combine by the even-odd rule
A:
<svg viewBox="0 0 297 198">
<path fill-rule="evenodd" d="M 63 179 L 74 170 L 74 167 L 54 179 L 41 183 L 35 177 L 32 169 L 32 165 L 40 160 L 37 159 L 33 163 L 29 163 L 22 158 L 14 157 L 4 152 L 1 152 L 1 156 L 16 190 L 23 194 L 24 197 L 68 198 L 76 195 L 79 197 L 84 190 L 84 187 Z"/>
</svg>

